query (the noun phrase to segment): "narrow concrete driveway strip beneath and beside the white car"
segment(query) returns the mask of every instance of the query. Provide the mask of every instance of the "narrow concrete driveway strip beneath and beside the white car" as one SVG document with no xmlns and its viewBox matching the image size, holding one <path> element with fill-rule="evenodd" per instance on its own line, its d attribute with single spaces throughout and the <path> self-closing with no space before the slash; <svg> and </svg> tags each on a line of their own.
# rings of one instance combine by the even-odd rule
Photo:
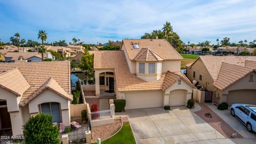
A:
<svg viewBox="0 0 256 144">
<path fill-rule="evenodd" d="M 246 130 L 246 127 L 236 118 L 230 115 L 230 107 L 227 110 L 218 110 L 212 103 L 204 103 L 211 108 L 214 113 L 219 115 L 225 122 L 227 122 L 233 129 L 235 129 L 244 138 L 256 139 L 256 133 L 251 133 Z"/>
</svg>

